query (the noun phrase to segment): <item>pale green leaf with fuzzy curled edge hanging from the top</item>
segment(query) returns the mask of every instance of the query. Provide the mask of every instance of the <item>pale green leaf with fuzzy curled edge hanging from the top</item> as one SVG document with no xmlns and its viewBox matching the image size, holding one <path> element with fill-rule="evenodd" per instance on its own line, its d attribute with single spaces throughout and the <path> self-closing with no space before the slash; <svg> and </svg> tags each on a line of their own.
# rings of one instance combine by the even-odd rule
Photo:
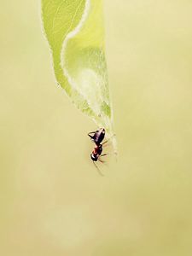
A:
<svg viewBox="0 0 192 256">
<path fill-rule="evenodd" d="M 112 136 L 102 0 L 42 0 L 42 18 L 58 84 Z"/>
</svg>

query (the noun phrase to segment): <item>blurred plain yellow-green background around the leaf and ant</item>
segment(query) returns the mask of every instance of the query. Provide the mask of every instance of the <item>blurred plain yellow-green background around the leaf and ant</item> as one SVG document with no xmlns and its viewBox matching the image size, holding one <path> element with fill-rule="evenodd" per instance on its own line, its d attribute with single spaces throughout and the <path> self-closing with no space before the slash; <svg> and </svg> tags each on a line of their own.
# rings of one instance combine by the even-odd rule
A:
<svg viewBox="0 0 192 256">
<path fill-rule="evenodd" d="M 119 156 L 101 177 L 96 125 L 55 84 L 39 1 L 1 1 L 1 255 L 191 255 L 191 10 L 105 0 Z"/>
</svg>

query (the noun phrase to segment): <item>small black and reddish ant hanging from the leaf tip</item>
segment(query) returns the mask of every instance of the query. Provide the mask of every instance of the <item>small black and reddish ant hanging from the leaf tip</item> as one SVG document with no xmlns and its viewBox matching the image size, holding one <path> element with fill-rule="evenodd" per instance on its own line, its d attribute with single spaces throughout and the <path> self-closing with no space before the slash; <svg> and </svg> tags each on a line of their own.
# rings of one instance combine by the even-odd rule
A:
<svg viewBox="0 0 192 256">
<path fill-rule="evenodd" d="M 91 135 L 93 134 L 93 135 Z M 98 131 L 91 131 L 88 133 L 88 136 L 90 139 L 96 144 L 95 148 L 93 149 L 92 153 L 90 154 L 91 160 L 93 160 L 94 165 L 96 166 L 96 161 L 99 160 L 100 162 L 104 162 L 100 159 L 101 156 L 107 155 L 107 154 L 102 154 L 102 145 L 105 143 L 108 143 L 106 141 L 105 143 L 102 143 L 102 140 L 105 137 L 105 129 L 101 128 Z M 98 167 L 96 166 L 98 169 Z"/>
</svg>

